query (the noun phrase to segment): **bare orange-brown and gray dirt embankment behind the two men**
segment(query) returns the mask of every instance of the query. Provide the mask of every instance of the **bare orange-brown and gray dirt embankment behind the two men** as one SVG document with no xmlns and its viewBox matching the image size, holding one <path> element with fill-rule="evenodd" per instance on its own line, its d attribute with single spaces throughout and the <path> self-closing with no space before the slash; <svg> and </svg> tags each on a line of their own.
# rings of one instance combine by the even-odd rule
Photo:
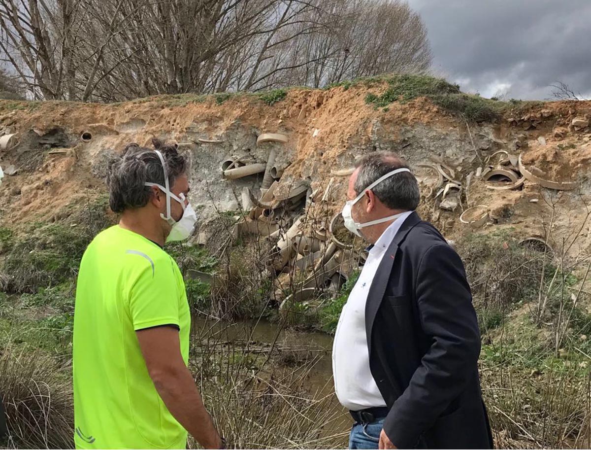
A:
<svg viewBox="0 0 591 450">
<path fill-rule="evenodd" d="M 420 178 L 420 212 L 450 239 L 472 229 L 460 215 L 476 205 L 489 211 L 479 229 L 511 226 L 523 235 L 543 236 L 550 221 L 558 234 L 566 234 L 586 215 L 591 103 L 537 103 L 507 109 L 494 123 L 468 124 L 426 98 L 379 109 L 366 104 L 368 92 L 379 95 L 384 89 L 294 89 L 274 105 L 249 95 L 159 96 L 113 105 L 0 102 L 0 132 L 15 134 L 0 150 L 7 172 L 0 184 L 2 226 L 18 231 L 21 224 L 67 219 L 73 207 L 105 193 L 103 177 L 113 154 L 130 142 L 148 145 L 152 137 L 175 141 L 190 155 L 191 202 L 203 223 L 215 213 L 240 209 L 245 187 L 261 197 L 263 173 L 226 180 L 223 160 L 234 156 L 264 164 L 271 150 L 275 166 L 284 170 L 277 192 L 303 182 L 309 194 L 322 196 L 330 183 L 324 200 L 332 212 L 342 208 L 348 179 L 342 173 L 356 157 L 395 151 Z M 284 134 L 288 142 L 257 144 L 262 133 Z M 538 177 L 578 184 L 547 189 L 525 179 L 514 189 L 491 189 L 511 180 L 501 175 L 487 181 L 489 166 L 511 170 L 518 180 L 525 175 L 512 161 L 519 154 Z M 433 166 L 443 168 L 443 182 Z M 448 187 L 450 182 L 457 187 Z M 585 250 L 586 237 L 578 245 Z"/>
</svg>

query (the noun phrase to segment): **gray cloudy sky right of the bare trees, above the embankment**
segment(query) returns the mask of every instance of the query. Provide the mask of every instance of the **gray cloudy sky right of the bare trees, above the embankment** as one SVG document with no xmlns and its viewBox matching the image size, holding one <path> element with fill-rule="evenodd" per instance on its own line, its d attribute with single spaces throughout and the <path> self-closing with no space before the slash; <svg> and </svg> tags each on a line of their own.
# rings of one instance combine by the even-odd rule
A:
<svg viewBox="0 0 591 450">
<path fill-rule="evenodd" d="M 547 99 L 560 80 L 591 98 L 591 0 L 408 0 L 433 70 L 465 92 Z"/>
</svg>

